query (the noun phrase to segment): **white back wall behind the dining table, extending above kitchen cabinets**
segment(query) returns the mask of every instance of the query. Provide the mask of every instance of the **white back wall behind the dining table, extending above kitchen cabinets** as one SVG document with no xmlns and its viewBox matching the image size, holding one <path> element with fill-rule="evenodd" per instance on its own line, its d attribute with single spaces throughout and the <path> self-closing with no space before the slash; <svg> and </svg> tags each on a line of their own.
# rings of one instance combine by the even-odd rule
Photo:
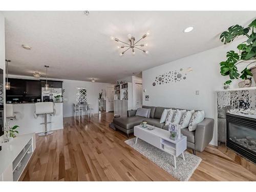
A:
<svg viewBox="0 0 256 192">
<path fill-rule="evenodd" d="M 10 78 L 22 78 L 22 79 L 36 79 L 30 76 L 9 75 Z M 45 78 L 40 78 L 45 79 Z M 63 117 L 73 116 L 73 103 L 76 103 L 76 88 L 84 87 L 87 89 L 87 102 L 91 104 L 94 109 L 94 113 L 98 113 L 98 98 L 101 90 L 107 90 L 108 87 L 114 87 L 111 83 L 102 82 L 90 82 L 90 81 L 76 81 L 67 79 L 53 79 L 49 80 L 61 80 L 63 81 Z M 104 95 L 102 95 L 104 98 Z M 108 105 L 108 104 L 107 104 Z"/>
</svg>

